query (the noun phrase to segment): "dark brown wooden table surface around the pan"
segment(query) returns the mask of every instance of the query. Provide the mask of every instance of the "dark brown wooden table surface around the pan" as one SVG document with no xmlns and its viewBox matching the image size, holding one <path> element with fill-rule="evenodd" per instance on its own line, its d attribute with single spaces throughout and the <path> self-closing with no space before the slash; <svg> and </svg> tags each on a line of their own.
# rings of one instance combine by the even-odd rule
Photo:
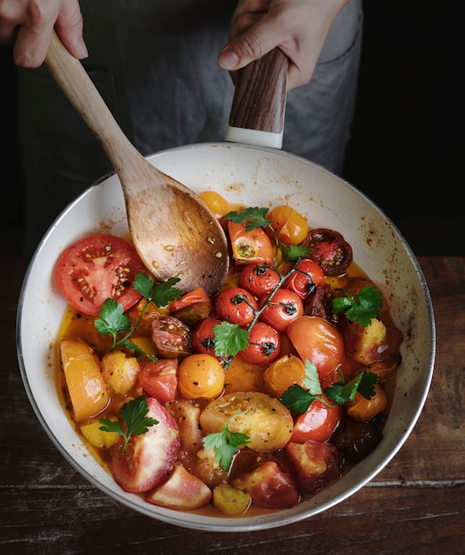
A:
<svg viewBox="0 0 465 555">
<path fill-rule="evenodd" d="M 2 553 L 465 552 L 465 257 L 418 258 L 438 349 L 430 395 L 399 453 L 367 486 L 308 520 L 208 533 L 151 520 L 94 488 L 50 442 L 19 374 L 15 318 L 27 260 L 3 259 L 0 297 Z"/>
</svg>

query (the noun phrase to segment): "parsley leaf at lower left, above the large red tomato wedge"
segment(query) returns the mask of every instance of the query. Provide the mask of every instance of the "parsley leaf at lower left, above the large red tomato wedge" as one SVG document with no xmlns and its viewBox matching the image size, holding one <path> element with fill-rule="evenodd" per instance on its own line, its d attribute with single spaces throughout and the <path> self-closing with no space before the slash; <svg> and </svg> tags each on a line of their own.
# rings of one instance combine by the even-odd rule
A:
<svg viewBox="0 0 465 555">
<path fill-rule="evenodd" d="M 104 432 L 113 432 L 115 434 L 120 434 L 124 437 L 123 446 L 120 452 L 123 453 L 128 447 L 129 438 L 131 435 L 143 435 L 149 431 L 149 427 L 158 424 L 159 421 L 155 418 L 147 417 L 149 412 L 149 405 L 144 395 L 132 399 L 128 403 L 124 403 L 120 409 L 120 417 L 126 425 L 126 429 L 120 421 L 113 421 L 107 418 L 98 418 L 98 421 L 102 426 L 100 430 Z"/>
</svg>

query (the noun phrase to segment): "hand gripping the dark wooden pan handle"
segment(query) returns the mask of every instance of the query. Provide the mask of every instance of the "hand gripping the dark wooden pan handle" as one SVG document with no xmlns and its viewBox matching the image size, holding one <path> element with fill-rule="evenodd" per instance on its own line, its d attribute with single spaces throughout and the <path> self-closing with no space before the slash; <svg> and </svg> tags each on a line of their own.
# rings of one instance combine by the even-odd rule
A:
<svg viewBox="0 0 465 555">
<path fill-rule="evenodd" d="M 239 0 L 219 63 L 234 72 L 276 46 L 290 60 L 288 90 L 309 82 L 337 14 L 349 0 Z"/>
</svg>

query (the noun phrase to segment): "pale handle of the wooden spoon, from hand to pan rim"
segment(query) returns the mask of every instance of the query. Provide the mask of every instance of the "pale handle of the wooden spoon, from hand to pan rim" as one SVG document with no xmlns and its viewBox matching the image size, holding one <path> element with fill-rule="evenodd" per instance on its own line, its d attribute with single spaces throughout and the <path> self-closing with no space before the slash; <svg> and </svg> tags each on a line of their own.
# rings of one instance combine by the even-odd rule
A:
<svg viewBox="0 0 465 555">
<path fill-rule="evenodd" d="M 131 160 L 142 157 L 114 120 L 81 61 L 66 49 L 55 31 L 51 35 L 45 65 L 97 137 L 118 173 L 130 165 Z"/>
</svg>

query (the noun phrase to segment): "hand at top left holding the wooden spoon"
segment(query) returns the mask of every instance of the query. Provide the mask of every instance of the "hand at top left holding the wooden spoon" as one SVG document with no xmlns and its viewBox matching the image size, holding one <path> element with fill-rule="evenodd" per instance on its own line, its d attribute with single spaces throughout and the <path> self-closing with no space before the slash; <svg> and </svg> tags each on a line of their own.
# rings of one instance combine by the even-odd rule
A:
<svg viewBox="0 0 465 555">
<path fill-rule="evenodd" d="M 0 0 L 0 44 L 14 43 L 17 66 L 43 63 L 53 27 L 76 58 L 87 58 L 78 0 Z"/>
</svg>

